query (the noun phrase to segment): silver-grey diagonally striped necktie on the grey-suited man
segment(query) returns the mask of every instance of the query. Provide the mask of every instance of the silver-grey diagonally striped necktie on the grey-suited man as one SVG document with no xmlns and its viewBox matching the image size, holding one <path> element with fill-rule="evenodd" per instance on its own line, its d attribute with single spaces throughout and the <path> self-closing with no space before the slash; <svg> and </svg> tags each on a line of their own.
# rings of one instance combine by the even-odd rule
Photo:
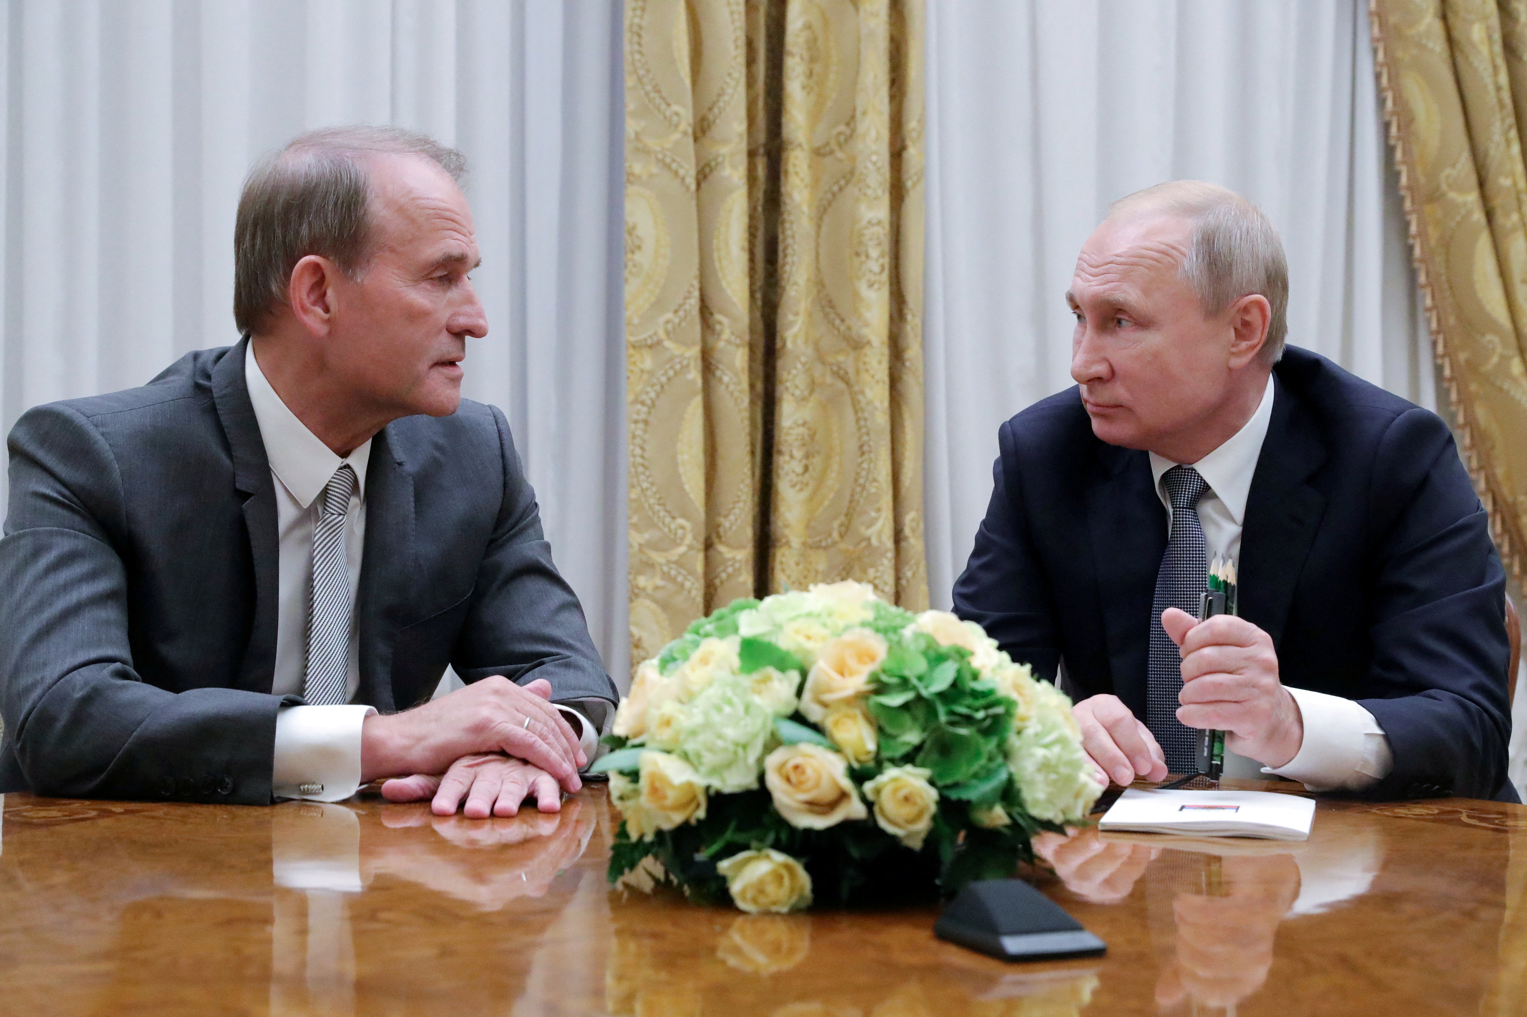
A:
<svg viewBox="0 0 1527 1017">
<path fill-rule="evenodd" d="M 344 464 L 318 496 L 307 622 L 307 682 L 302 685 L 302 698 L 313 706 L 331 706 L 347 698 L 350 569 L 345 563 L 345 514 L 354 489 L 356 471 Z"/>
</svg>

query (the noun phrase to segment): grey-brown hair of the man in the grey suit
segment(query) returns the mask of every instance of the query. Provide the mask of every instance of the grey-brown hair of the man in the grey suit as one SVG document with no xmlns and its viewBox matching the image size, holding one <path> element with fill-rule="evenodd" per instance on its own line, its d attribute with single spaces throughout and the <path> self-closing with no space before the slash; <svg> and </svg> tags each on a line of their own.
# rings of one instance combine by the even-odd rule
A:
<svg viewBox="0 0 1527 1017">
<path fill-rule="evenodd" d="M 261 159 L 244 180 L 234 223 L 234 323 L 263 326 L 286 303 L 296 262 L 333 261 L 359 279 L 371 259 L 371 156 L 423 156 L 455 181 L 467 160 L 454 148 L 400 127 L 324 127 Z"/>
</svg>

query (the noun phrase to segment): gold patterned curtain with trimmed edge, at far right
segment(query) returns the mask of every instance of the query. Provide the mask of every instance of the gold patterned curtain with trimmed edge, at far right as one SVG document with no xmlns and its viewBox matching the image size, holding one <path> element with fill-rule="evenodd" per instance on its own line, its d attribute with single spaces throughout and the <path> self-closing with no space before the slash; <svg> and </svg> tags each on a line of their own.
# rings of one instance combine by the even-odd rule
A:
<svg viewBox="0 0 1527 1017">
<path fill-rule="evenodd" d="M 1527 2 L 1370 0 L 1432 343 L 1495 541 L 1527 549 Z"/>
</svg>

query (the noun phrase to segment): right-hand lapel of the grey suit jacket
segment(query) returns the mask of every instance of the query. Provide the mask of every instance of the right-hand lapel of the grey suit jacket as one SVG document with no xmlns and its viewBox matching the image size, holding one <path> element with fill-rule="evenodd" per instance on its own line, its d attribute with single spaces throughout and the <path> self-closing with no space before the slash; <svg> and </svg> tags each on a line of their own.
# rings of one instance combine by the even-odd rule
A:
<svg viewBox="0 0 1527 1017">
<path fill-rule="evenodd" d="M 360 689 L 357 701 L 382 714 L 392 700 L 392 646 L 406 608 L 405 592 L 414 560 L 414 477 L 395 459 L 383 428 L 371 439 L 366 465 L 366 537 L 360 560 L 356 613 L 360 625 Z"/>
</svg>

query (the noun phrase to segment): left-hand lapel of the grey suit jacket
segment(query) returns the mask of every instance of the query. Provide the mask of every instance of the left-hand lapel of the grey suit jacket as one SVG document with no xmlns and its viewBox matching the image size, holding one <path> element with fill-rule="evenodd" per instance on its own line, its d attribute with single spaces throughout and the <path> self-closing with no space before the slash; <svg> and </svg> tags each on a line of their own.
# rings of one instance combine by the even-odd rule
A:
<svg viewBox="0 0 1527 1017">
<path fill-rule="evenodd" d="M 212 401 L 234 459 L 234 488 L 244 499 L 244 529 L 255 573 L 255 619 L 249 631 L 238 688 L 270 692 L 276 668 L 276 494 L 260 422 L 244 384 L 249 340 L 234 346 L 212 367 Z"/>
</svg>

